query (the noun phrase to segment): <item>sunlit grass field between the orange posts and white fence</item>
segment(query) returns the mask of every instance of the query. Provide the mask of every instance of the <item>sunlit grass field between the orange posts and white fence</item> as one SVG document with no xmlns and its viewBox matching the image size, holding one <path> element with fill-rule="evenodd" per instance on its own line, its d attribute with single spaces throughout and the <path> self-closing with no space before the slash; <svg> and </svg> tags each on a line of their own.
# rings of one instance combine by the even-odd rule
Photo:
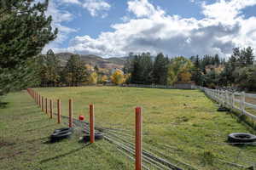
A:
<svg viewBox="0 0 256 170">
<path fill-rule="evenodd" d="M 74 116 L 89 120 L 88 105 L 95 105 L 96 124 L 134 133 L 136 106 L 143 107 L 143 147 L 176 163 L 195 169 L 239 169 L 256 162 L 256 146 L 226 144 L 229 133 L 255 133 L 198 90 L 79 87 L 35 88 L 44 97 L 61 99 L 62 114 L 73 99 Z M 132 140 L 131 140 L 132 142 Z M 188 168 L 188 167 L 186 167 Z"/>
</svg>

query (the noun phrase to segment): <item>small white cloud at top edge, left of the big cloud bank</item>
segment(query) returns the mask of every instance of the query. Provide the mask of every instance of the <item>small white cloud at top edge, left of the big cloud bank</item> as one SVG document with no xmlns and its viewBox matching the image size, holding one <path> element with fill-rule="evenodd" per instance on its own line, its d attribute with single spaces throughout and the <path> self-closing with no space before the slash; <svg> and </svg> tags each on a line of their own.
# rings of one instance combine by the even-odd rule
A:
<svg viewBox="0 0 256 170">
<path fill-rule="evenodd" d="M 105 12 L 111 8 L 111 5 L 103 0 L 85 0 L 83 8 L 86 8 L 91 16 L 101 15 L 105 18 L 108 14 Z"/>
</svg>

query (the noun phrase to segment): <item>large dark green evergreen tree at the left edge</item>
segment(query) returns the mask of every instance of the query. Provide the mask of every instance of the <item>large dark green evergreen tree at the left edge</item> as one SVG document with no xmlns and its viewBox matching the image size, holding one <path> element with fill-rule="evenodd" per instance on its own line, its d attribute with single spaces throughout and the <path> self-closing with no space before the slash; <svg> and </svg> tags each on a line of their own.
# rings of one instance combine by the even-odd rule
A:
<svg viewBox="0 0 256 170">
<path fill-rule="evenodd" d="M 0 94 L 26 88 L 34 75 L 30 68 L 33 57 L 55 39 L 57 31 L 52 31 L 51 17 L 44 14 L 47 6 L 48 1 L 0 2 Z"/>
</svg>

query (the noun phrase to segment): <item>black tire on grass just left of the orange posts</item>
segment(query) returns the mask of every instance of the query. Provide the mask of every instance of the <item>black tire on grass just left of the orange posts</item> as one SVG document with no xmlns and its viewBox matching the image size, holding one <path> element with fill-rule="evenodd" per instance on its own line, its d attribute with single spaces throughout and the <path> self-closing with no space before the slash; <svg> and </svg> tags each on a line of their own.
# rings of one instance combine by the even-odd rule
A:
<svg viewBox="0 0 256 170">
<path fill-rule="evenodd" d="M 59 129 L 55 129 L 54 133 L 50 135 L 50 141 L 55 142 L 61 139 L 67 139 L 73 133 L 73 128 L 63 127 Z"/>
</svg>

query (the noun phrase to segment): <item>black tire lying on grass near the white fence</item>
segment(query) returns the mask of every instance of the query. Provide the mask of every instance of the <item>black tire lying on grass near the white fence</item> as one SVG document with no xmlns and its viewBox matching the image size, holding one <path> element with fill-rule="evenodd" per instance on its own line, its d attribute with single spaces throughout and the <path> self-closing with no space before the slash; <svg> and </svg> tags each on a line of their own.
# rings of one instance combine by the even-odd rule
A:
<svg viewBox="0 0 256 170">
<path fill-rule="evenodd" d="M 256 136 L 250 133 L 230 133 L 228 141 L 230 143 L 251 143 L 256 141 Z"/>
</svg>

